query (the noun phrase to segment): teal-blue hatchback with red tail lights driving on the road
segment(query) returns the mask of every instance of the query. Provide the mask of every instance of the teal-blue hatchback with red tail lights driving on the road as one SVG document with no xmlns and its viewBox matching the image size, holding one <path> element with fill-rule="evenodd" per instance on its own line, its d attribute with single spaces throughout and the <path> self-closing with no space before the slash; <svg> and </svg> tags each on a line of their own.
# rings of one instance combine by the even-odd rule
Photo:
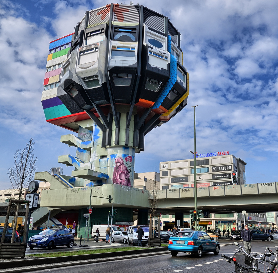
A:
<svg viewBox="0 0 278 273">
<path fill-rule="evenodd" d="M 178 252 L 195 253 L 197 257 L 202 257 L 203 252 L 218 255 L 219 249 L 219 243 L 203 231 L 178 231 L 170 237 L 168 245 L 172 256 L 177 256 Z"/>
</svg>

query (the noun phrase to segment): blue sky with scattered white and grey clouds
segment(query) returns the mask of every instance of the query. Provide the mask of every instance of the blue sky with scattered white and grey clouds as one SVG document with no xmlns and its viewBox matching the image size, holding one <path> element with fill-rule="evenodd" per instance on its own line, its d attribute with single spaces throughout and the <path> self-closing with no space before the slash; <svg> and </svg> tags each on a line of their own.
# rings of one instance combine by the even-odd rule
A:
<svg viewBox="0 0 278 273">
<path fill-rule="evenodd" d="M 61 166 L 76 149 L 60 143 L 66 129 L 49 124 L 41 105 L 49 42 L 71 34 L 102 0 L 0 0 L 0 189 L 10 187 L 13 154 L 34 138 L 37 171 Z M 123 1 L 129 4 L 130 1 Z M 136 3 L 137 4 L 137 1 Z M 168 16 L 182 34 L 189 73 L 185 108 L 145 136 L 136 172 L 192 158 L 193 108 L 197 154 L 229 151 L 247 165 L 247 183 L 278 181 L 278 1 L 166 0 L 140 5 Z"/>
</svg>

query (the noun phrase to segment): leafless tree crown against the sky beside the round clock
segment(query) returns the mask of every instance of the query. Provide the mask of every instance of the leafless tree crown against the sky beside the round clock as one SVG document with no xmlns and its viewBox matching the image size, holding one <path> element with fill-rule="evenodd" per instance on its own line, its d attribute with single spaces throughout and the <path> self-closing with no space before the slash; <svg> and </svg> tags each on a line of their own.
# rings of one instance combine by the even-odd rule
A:
<svg viewBox="0 0 278 273">
<path fill-rule="evenodd" d="M 19 149 L 14 153 L 14 166 L 8 169 L 11 186 L 18 199 L 22 199 L 23 190 L 34 176 L 37 169 L 38 158 L 33 154 L 34 139 L 31 137 L 24 149 Z"/>
</svg>

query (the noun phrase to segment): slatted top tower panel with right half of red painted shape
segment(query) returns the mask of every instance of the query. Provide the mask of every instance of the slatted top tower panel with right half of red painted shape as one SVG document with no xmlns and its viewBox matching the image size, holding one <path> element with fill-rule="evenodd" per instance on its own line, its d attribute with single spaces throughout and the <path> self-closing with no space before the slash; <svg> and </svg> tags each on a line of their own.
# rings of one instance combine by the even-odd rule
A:
<svg viewBox="0 0 278 273">
<path fill-rule="evenodd" d="M 139 7 L 114 5 L 113 21 L 139 24 Z"/>
</svg>

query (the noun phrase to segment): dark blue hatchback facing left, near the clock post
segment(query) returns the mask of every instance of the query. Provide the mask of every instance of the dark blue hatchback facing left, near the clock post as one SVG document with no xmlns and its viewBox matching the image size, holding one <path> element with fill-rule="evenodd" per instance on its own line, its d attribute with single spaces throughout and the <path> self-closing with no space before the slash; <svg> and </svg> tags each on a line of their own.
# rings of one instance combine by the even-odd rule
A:
<svg viewBox="0 0 278 273">
<path fill-rule="evenodd" d="M 55 248 L 56 246 L 67 246 L 72 248 L 74 236 L 68 229 L 45 229 L 28 240 L 28 246 L 33 248 Z"/>
</svg>

